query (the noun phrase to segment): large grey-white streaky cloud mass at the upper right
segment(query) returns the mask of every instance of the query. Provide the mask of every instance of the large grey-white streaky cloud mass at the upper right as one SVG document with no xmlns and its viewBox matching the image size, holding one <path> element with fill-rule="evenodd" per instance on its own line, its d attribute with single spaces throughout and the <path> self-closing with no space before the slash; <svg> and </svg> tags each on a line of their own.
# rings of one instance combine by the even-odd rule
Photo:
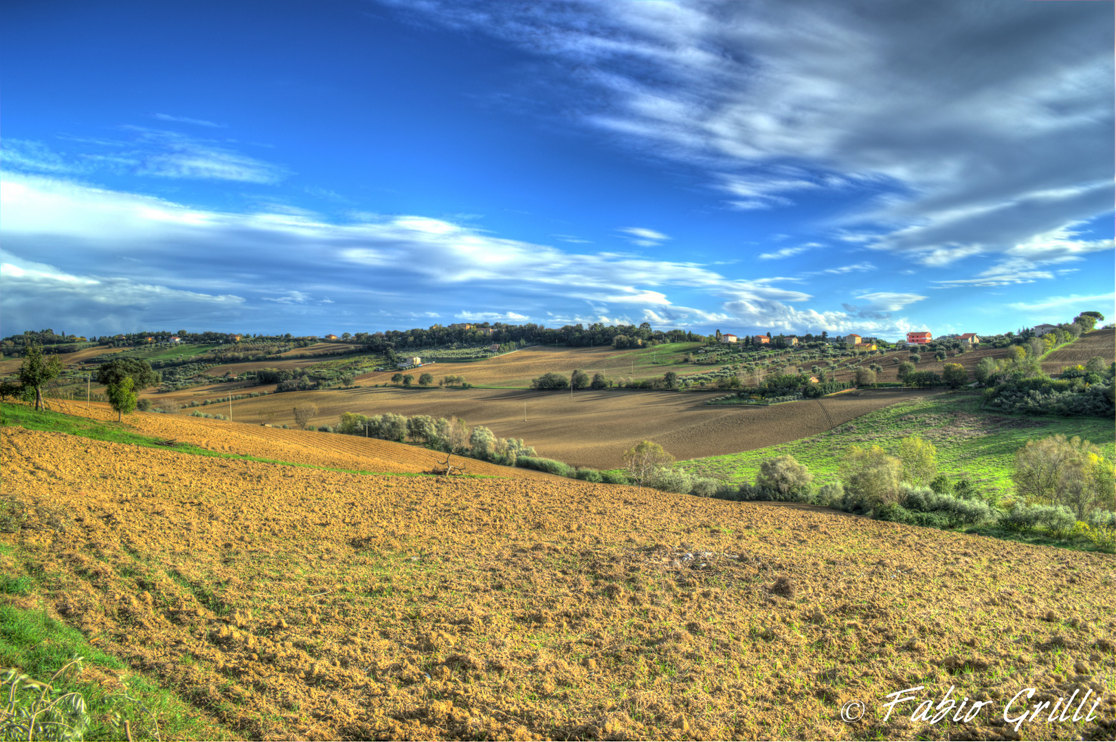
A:
<svg viewBox="0 0 1116 742">
<path fill-rule="evenodd" d="M 1107 3 L 386 4 L 575 70 L 583 125 L 735 209 L 859 194 L 835 237 L 925 266 L 1113 209 Z"/>
</svg>

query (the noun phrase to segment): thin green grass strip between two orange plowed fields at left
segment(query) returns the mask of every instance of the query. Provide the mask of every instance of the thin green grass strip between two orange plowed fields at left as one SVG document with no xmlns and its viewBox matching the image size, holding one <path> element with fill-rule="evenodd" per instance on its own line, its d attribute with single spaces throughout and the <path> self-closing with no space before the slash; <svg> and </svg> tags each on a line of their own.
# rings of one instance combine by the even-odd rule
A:
<svg viewBox="0 0 1116 742">
<path fill-rule="evenodd" d="M 138 445 L 147 449 L 171 450 L 179 453 L 187 453 L 195 456 L 212 456 L 214 459 L 233 459 L 237 461 L 258 461 L 264 464 L 279 464 L 281 466 L 301 466 L 304 469 L 319 469 L 328 472 L 341 472 L 344 474 L 363 474 L 374 476 L 441 476 L 441 474 L 421 474 L 415 472 L 372 472 L 358 469 L 339 469 L 336 466 L 321 466 L 318 464 L 302 464 L 290 461 L 279 461 L 277 459 L 262 459 L 260 456 L 248 456 L 239 453 L 224 453 L 222 451 L 210 451 L 191 443 L 176 443 L 173 446 L 160 445 L 161 439 L 153 435 L 143 435 L 129 431 L 125 425 L 118 423 L 103 423 L 100 421 L 88 420 L 66 415 L 58 412 L 42 409 L 36 412 L 25 405 L 3 404 L 0 405 L 4 425 L 17 425 L 29 431 L 49 431 L 52 433 L 66 433 L 80 437 L 93 439 L 94 441 L 107 441 L 108 443 L 122 443 L 127 445 Z M 337 435 L 337 433 L 324 433 L 324 435 Z M 461 474 L 465 479 L 502 479 L 489 474 Z"/>
</svg>

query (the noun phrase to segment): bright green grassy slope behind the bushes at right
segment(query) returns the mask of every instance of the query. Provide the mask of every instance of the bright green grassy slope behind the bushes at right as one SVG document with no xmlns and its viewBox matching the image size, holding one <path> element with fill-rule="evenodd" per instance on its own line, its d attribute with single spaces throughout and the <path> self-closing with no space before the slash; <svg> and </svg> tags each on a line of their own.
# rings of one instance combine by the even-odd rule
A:
<svg viewBox="0 0 1116 742">
<path fill-rule="evenodd" d="M 1110 420 L 991 414 L 982 412 L 980 405 L 980 397 L 972 394 L 939 394 L 877 409 L 808 439 L 683 461 L 680 468 L 741 483 L 756 475 L 764 459 L 790 454 L 810 468 L 816 481 L 825 482 L 836 479 L 852 446 L 878 445 L 894 455 L 903 437 L 917 435 L 937 446 L 940 472 L 968 474 L 977 483 L 1009 490 L 1016 451 L 1030 439 L 1078 435 L 1097 444 L 1106 457 L 1116 455 L 1116 430 Z"/>
</svg>

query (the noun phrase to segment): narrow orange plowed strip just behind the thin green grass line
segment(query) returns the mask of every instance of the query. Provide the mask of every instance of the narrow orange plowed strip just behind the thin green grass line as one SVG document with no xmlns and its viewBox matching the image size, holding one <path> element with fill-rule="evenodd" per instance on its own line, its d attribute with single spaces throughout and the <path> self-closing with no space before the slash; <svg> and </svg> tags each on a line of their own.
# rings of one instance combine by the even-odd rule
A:
<svg viewBox="0 0 1116 742">
<path fill-rule="evenodd" d="M 88 413 L 85 409 L 85 404 L 55 401 L 51 406 L 57 412 L 70 415 L 105 421 L 116 420 L 116 413 L 103 403 L 93 403 Z M 201 420 L 185 415 L 136 412 L 127 416 L 127 424 L 146 435 L 192 443 L 210 451 L 335 469 L 421 473 L 431 471 L 435 463 L 445 459 L 444 454 L 434 451 L 391 441 L 330 433 L 285 431 L 221 420 Z M 551 474 L 543 472 L 498 466 L 461 456 L 455 456 L 453 461 L 455 464 L 464 464 L 466 473 L 470 474 L 554 479 Z"/>
</svg>

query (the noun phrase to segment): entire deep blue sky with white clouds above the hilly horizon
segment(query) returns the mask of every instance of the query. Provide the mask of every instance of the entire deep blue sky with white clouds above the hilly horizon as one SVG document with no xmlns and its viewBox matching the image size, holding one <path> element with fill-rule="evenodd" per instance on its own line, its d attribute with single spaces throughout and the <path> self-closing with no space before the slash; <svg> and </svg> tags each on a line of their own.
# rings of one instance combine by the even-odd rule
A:
<svg viewBox="0 0 1116 742">
<path fill-rule="evenodd" d="M 0 4 L 0 334 L 1116 315 L 1114 6 Z"/>
</svg>

